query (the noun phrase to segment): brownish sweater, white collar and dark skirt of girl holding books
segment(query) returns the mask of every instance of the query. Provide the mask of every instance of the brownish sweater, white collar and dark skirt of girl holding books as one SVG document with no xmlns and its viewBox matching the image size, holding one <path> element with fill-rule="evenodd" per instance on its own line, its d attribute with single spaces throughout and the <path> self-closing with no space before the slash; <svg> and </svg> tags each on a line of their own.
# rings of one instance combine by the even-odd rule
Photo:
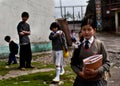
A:
<svg viewBox="0 0 120 86">
<path fill-rule="evenodd" d="M 86 49 L 85 41 L 86 39 L 84 39 L 82 44 L 74 50 L 71 58 L 71 68 L 77 74 L 73 86 L 106 86 L 106 81 L 104 80 L 103 75 L 105 71 L 109 71 L 110 62 L 104 44 L 92 36 L 88 40 L 88 49 Z M 98 75 L 96 77 L 84 79 L 78 75 L 78 72 L 82 71 L 83 68 L 83 59 L 95 54 L 103 55 L 103 64 L 98 68 Z"/>
</svg>

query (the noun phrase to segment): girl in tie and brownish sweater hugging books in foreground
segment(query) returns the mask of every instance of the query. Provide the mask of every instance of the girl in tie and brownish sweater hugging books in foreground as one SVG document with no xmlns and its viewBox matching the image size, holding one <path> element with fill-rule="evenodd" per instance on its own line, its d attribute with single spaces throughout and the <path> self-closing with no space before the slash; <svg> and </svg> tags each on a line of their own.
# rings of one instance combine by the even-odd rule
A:
<svg viewBox="0 0 120 86">
<path fill-rule="evenodd" d="M 84 40 L 74 50 L 71 58 L 71 68 L 77 75 L 73 86 L 107 86 L 103 75 L 106 71 L 109 71 L 110 61 L 103 42 L 94 36 L 95 27 L 92 19 L 86 19 L 83 22 L 81 33 Z M 96 70 L 84 68 L 83 59 L 95 54 L 103 55 L 102 66 Z"/>
</svg>

